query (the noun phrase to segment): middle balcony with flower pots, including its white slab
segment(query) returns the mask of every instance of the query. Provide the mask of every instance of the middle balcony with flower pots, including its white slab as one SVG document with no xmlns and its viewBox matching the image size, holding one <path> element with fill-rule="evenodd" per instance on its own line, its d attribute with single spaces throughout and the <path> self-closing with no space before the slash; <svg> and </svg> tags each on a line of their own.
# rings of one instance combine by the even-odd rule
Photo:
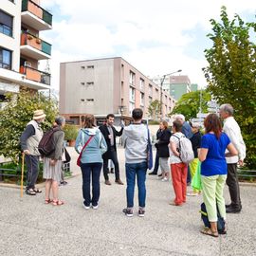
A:
<svg viewBox="0 0 256 256">
<path fill-rule="evenodd" d="M 29 33 L 21 34 L 21 53 L 35 60 L 46 60 L 51 55 L 51 45 Z"/>
</svg>

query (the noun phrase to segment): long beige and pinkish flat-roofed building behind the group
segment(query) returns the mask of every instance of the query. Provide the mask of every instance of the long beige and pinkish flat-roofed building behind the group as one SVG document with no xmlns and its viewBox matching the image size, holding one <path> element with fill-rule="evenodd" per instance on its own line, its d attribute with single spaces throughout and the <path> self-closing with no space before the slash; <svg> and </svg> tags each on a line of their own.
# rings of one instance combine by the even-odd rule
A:
<svg viewBox="0 0 256 256">
<path fill-rule="evenodd" d="M 98 119 L 109 113 L 128 118 L 136 107 L 150 119 L 148 107 L 151 101 L 160 101 L 160 93 L 155 82 L 120 57 L 61 64 L 60 113 L 76 124 L 86 113 Z M 163 92 L 162 102 L 165 117 L 175 101 Z"/>
</svg>

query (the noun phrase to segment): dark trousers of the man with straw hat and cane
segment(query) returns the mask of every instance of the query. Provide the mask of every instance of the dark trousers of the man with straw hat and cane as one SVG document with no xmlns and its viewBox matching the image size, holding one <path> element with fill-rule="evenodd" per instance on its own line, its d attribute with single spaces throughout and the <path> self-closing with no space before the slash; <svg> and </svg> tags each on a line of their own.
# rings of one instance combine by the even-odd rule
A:
<svg viewBox="0 0 256 256">
<path fill-rule="evenodd" d="M 27 165 L 27 190 L 34 189 L 39 172 L 39 156 L 25 155 Z"/>
</svg>

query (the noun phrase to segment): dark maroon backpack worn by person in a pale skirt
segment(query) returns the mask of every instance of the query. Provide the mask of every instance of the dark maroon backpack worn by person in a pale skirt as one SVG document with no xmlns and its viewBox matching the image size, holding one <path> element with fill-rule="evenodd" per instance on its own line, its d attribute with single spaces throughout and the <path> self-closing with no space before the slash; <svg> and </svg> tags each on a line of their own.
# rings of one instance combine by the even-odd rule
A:
<svg viewBox="0 0 256 256">
<path fill-rule="evenodd" d="M 42 156 L 50 155 L 55 150 L 55 145 L 53 143 L 53 134 L 57 131 L 60 131 L 59 127 L 51 128 L 41 138 L 38 145 L 38 151 Z"/>
</svg>

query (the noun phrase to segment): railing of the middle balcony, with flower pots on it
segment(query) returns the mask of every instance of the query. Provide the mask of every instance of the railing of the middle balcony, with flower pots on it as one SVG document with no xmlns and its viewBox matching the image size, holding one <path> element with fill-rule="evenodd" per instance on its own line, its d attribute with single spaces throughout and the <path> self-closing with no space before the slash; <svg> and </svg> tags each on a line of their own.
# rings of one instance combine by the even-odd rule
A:
<svg viewBox="0 0 256 256">
<path fill-rule="evenodd" d="M 44 53 L 51 55 L 51 45 L 43 41 L 42 39 L 29 34 L 21 34 L 21 46 L 32 46 L 38 50 L 43 51 Z"/>
</svg>

